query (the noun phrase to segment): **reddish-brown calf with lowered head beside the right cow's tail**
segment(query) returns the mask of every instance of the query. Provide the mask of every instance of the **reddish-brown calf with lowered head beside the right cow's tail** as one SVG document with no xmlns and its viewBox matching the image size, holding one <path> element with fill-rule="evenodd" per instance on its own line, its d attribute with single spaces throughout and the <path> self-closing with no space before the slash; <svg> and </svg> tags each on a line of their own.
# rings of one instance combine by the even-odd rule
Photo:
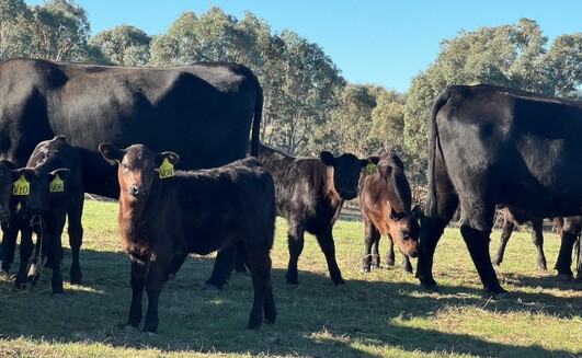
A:
<svg viewBox="0 0 582 358">
<path fill-rule="evenodd" d="M 393 244 L 402 253 L 402 270 L 412 273 L 410 257 L 416 257 L 420 234 L 420 207 L 412 208 L 410 185 L 404 175 L 404 164 L 385 149 L 376 168 L 364 171 L 360 178 L 360 209 L 364 221 L 364 257 L 362 270 L 380 267 L 378 245 L 381 235 L 388 236 L 386 264 L 395 265 Z"/>
</svg>

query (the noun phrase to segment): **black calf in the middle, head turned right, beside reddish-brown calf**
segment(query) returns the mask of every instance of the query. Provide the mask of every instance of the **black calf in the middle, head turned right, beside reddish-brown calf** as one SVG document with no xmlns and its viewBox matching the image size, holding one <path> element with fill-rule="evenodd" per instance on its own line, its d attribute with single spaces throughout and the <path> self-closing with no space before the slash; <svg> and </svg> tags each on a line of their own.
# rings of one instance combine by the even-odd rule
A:
<svg viewBox="0 0 582 358">
<path fill-rule="evenodd" d="M 316 235 L 326 255 L 331 279 L 344 284 L 335 261 L 332 229 L 344 200 L 357 196 L 362 168 L 378 158 L 365 160 L 354 154 L 333 157 L 322 151 L 320 159 L 298 159 L 262 145 L 259 159 L 275 181 L 277 213 L 288 223 L 289 263 L 287 284 L 297 285 L 297 262 L 304 250 L 304 233 Z"/>
</svg>

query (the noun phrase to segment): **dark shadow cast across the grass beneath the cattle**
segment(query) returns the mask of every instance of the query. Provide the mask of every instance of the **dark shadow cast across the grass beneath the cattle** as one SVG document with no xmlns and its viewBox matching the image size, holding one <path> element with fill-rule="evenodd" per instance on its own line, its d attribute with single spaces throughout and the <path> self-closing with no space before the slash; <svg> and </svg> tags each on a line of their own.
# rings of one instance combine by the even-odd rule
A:
<svg viewBox="0 0 582 358">
<path fill-rule="evenodd" d="M 579 297 L 560 298 L 558 304 L 550 293 L 520 291 L 491 303 L 470 287 L 443 286 L 440 293 L 430 293 L 411 282 L 367 279 L 334 287 L 328 276 L 309 272 L 300 272 L 300 285 L 290 286 L 285 284 L 285 269 L 274 268 L 277 322 L 250 332 L 244 330 L 252 304 L 250 278 L 233 276 L 222 291 L 196 288 L 213 264 L 212 257 L 194 256 L 167 284 L 160 299 L 159 335 L 150 337 L 124 331 L 132 295 L 125 255 L 83 250 L 83 285 L 66 286 L 65 297 L 52 297 L 49 270 L 27 291 L 14 291 L 12 280 L 0 281 L 0 336 L 240 355 L 381 357 L 386 349 L 398 347 L 425 354 L 569 357 L 566 350 L 494 343 L 468 334 L 412 327 L 407 322 L 430 319 L 450 307 L 478 307 L 497 313 L 539 310 L 559 316 L 580 316 L 582 311 Z M 68 265 L 70 253 L 66 251 L 66 280 Z M 541 284 L 522 278 L 520 285 L 559 287 L 551 284 L 551 277 Z M 535 304 L 539 302 L 548 304 Z M 378 353 L 363 347 L 376 347 L 372 351 Z"/>
</svg>

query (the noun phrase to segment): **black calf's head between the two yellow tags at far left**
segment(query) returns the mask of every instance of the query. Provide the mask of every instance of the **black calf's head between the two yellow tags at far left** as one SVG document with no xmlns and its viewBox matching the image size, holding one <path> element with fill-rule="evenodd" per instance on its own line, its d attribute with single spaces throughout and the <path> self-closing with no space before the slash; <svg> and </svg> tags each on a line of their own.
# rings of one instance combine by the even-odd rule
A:
<svg viewBox="0 0 582 358">
<path fill-rule="evenodd" d="M 70 176 L 68 169 L 45 173 L 33 168 L 14 171 L 13 195 L 20 196 L 22 207 L 28 212 L 42 213 L 50 210 L 52 203 L 61 200 Z"/>
</svg>

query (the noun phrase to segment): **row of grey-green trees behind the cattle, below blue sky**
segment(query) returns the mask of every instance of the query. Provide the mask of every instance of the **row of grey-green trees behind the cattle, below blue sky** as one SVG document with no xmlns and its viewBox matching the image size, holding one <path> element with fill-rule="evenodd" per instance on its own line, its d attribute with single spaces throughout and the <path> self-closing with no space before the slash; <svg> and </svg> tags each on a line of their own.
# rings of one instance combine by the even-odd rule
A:
<svg viewBox="0 0 582 358">
<path fill-rule="evenodd" d="M 0 60 L 11 57 L 150 67 L 241 62 L 264 89 L 264 142 L 293 155 L 391 148 L 416 183 L 425 181 L 431 103 L 445 85 L 491 83 L 582 97 L 582 33 L 548 43 L 528 19 L 444 39 L 407 93 L 349 83 L 319 45 L 289 30 L 274 33 L 252 12 L 237 19 L 218 7 L 186 11 L 153 36 L 127 24 L 91 35 L 85 11 L 72 0 L 31 7 L 0 0 Z"/>
</svg>

